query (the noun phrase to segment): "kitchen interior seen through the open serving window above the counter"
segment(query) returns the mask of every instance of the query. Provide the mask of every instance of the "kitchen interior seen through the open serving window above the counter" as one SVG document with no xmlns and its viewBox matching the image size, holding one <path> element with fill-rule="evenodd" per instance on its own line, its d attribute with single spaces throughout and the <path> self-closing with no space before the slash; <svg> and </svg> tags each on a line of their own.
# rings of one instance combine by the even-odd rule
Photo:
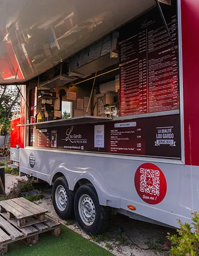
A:
<svg viewBox="0 0 199 256">
<path fill-rule="evenodd" d="M 27 87 L 29 123 L 83 116 L 118 117 L 118 41 L 118 33 L 109 34 L 32 79 Z"/>
</svg>

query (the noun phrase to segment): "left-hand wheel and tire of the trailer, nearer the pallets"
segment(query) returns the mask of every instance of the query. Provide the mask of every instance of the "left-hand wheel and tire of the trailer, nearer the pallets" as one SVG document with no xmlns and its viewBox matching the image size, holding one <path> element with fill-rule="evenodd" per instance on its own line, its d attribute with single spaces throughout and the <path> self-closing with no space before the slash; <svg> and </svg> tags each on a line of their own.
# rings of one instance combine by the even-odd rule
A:
<svg viewBox="0 0 199 256">
<path fill-rule="evenodd" d="M 56 179 L 52 188 L 52 202 L 62 220 L 70 219 L 74 215 L 74 194 L 69 190 L 65 177 Z"/>
</svg>

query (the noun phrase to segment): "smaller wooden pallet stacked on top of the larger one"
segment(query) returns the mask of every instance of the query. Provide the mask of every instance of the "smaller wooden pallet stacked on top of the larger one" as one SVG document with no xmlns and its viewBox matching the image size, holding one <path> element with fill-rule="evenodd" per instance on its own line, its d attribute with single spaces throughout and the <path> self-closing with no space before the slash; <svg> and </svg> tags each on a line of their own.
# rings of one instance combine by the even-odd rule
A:
<svg viewBox="0 0 199 256">
<path fill-rule="evenodd" d="M 18 227 L 26 227 L 45 221 L 46 209 L 23 197 L 0 202 L 0 213 L 6 212 L 8 219 L 16 218 Z"/>
</svg>

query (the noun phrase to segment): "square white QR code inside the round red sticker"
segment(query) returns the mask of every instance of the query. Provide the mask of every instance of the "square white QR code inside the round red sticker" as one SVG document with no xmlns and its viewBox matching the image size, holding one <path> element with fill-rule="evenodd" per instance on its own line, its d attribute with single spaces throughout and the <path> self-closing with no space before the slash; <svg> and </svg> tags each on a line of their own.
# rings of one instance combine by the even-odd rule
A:
<svg viewBox="0 0 199 256">
<path fill-rule="evenodd" d="M 159 196 L 160 172 L 158 170 L 140 168 L 140 191 Z"/>
</svg>

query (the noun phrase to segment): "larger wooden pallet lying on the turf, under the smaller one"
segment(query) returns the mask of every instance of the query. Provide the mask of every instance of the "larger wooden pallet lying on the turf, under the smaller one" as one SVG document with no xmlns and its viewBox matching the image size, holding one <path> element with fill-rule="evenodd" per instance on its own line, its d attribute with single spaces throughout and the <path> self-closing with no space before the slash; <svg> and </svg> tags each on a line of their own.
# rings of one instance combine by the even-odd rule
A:
<svg viewBox="0 0 199 256">
<path fill-rule="evenodd" d="M 60 223 L 46 216 L 46 221 L 26 227 L 18 227 L 16 219 L 9 219 L 3 212 L 0 214 L 0 255 L 8 252 L 8 244 L 21 240 L 26 245 L 37 243 L 39 234 L 51 231 L 55 237 L 61 233 Z"/>
</svg>

